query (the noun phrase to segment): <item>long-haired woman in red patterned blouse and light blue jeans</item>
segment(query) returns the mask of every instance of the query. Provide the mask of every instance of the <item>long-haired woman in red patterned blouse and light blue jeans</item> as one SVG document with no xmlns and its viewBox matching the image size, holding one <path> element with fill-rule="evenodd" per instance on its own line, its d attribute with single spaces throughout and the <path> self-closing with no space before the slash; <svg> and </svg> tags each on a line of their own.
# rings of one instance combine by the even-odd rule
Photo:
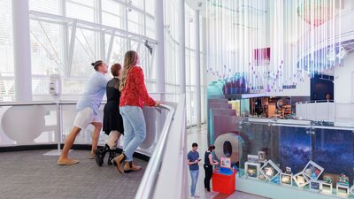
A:
<svg viewBox="0 0 354 199">
<path fill-rule="evenodd" d="M 124 57 L 124 68 L 119 85 L 120 103 L 119 111 L 123 118 L 124 126 L 124 146 L 123 153 L 119 157 L 112 159 L 118 172 L 134 172 L 141 170 L 141 166 L 133 165 L 133 153 L 135 149 L 145 140 L 146 126 L 142 114 L 142 106 L 158 106 L 146 90 L 142 68 L 139 64 L 138 54 L 127 51 Z M 123 167 L 123 162 L 127 161 Z"/>
</svg>

